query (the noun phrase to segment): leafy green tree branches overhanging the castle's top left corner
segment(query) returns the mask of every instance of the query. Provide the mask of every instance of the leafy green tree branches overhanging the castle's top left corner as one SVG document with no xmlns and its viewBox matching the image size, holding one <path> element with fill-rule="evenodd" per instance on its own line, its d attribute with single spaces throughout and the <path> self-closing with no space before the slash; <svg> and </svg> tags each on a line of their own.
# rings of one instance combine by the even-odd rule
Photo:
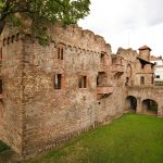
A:
<svg viewBox="0 0 163 163">
<path fill-rule="evenodd" d="M 76 24 L 89 14 L 89 0 L 0 0 L 0 35 L 4 25 L 48 40 L 48 25 Z"/>
</svg>

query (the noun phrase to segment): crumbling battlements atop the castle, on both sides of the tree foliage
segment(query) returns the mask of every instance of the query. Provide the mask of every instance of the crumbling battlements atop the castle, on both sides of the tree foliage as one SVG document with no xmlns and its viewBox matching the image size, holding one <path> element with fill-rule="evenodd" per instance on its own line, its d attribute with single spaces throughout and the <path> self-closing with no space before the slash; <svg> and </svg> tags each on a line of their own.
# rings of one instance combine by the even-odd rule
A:
<svg viewBox="0 0 163 163">
<path fill-rule="evenodd" d="M 60 23 L 55 23 L 55 25 L 49 28 L 48 33 L 52 36 L 54 47 L 57 47 L 59 42 L 62 42 L 66 45 L 66 47 L 72 47 L 71 49 L 76 47 L 79 51 L 84 49 L 85 51 L 95 51 L 97 53 L 104 51 L 111 54 L 111 46 L 105 42 L 102 36 L 96 35 L 89 29 L 83 29 L 77 25 L 63 26 Z M 38 42 L 38 38 L 34 38 L 30 34 L 20 34 L 15 28 L 9 30 L 9 28 L 5 27 L 2 35 L 2 47 L 8 47 L 21 40 L 27 43 L 29 43 L 29 41 Z"/>
</svg>

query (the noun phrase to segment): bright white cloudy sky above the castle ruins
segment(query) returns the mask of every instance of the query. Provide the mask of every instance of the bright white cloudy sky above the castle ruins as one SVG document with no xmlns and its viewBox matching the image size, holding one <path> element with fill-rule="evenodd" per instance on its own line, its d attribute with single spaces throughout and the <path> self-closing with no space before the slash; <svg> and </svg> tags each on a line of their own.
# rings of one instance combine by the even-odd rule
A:
<svg viewBox="0 0 163 163">
<path fill-rule="evenodd" d="M 79 26 L 104 37 L 112 51 L 147 45 L 163 55 L 163 0 L 91 0 Z"/>
</svg>

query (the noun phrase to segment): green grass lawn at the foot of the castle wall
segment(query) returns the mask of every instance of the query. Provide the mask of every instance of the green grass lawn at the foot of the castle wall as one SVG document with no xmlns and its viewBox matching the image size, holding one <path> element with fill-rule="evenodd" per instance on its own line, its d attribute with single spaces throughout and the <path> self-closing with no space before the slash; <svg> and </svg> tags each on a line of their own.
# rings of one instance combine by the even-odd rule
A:
<svg viewBox="0 0 163 163">
<path fill-rule="evenodd" d="M 163 163 L 163 118 L 124 115 L 28 163 Z"/>
</svg>

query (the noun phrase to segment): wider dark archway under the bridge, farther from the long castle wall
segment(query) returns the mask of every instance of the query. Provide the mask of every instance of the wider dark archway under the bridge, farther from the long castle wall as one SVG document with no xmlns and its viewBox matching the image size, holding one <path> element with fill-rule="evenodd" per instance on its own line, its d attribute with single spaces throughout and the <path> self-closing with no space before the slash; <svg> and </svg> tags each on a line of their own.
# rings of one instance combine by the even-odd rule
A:
<svg viewBox="0 0 163 163">
<path fill-rule="evenodd" d="M 151 99 L 143 100 L 142 112 L 147 114 L 158 114 L 158 103 Z"/>
</svg>

